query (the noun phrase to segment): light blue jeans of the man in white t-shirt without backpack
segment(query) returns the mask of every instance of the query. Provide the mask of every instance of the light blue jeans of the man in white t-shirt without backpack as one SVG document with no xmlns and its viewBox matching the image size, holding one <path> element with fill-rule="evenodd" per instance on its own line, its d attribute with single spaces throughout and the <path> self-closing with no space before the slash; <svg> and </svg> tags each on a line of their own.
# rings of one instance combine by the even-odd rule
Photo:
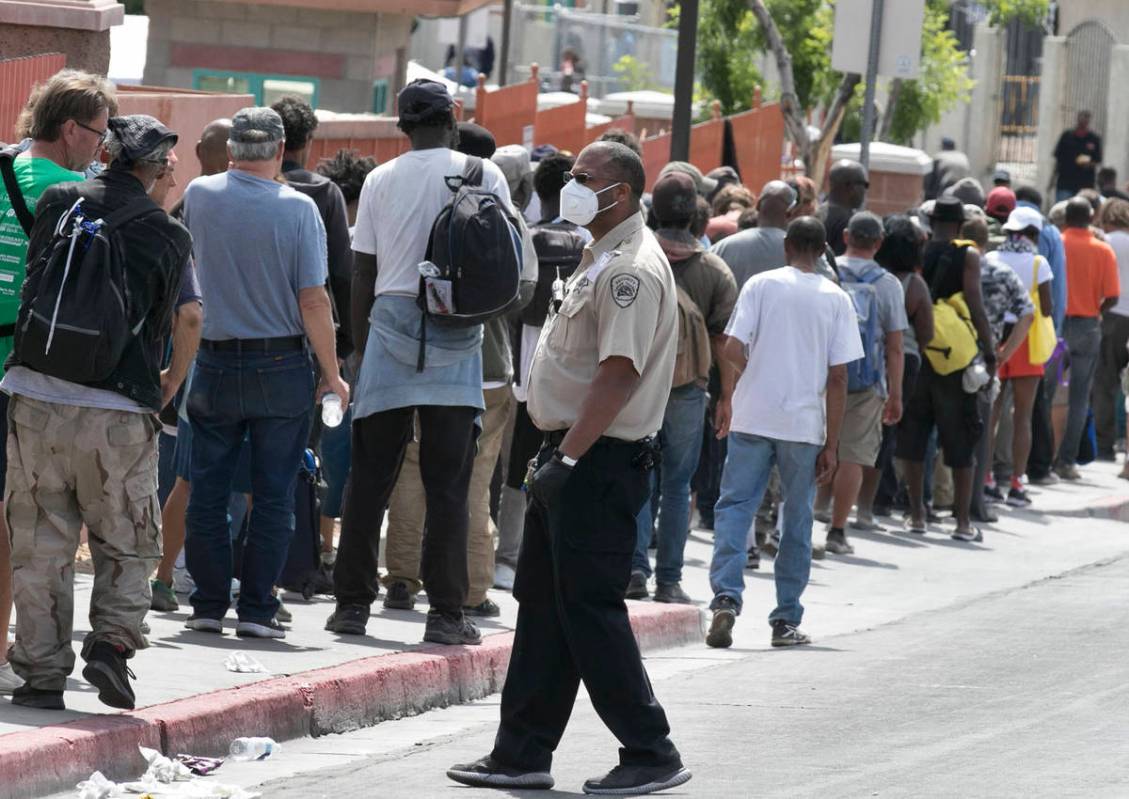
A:
<svg viewBox="0 0 1129 799">
<path fill-rule="evenodd" d="M 737 603 L 745 589 L 745 552 L 749 529 L 761 507 L 772 466 L 780 469 L 784 529 L 772 571 L 777 607 L 769 622 L 799 624 L 799 597 L 812 570 L 812 500 L 815 498 L 817 445 L 779 441 L 761 436 L 729 433 L 729 451 L 721 473 L 721 498 L 714 518 L 714 560 L 709 568 L 714 603 L 726 596 Z"/>
</svg>

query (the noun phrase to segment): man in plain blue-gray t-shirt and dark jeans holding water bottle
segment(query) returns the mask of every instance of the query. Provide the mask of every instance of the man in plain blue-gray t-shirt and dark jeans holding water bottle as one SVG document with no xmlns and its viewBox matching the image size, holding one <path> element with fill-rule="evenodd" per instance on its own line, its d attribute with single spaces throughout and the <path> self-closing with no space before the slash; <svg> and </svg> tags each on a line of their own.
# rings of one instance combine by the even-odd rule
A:
<svg viewBox="0 0 1129 799">
<path fill-rule="evenodd" d="M 231 118 L 231 168 L 193 181 L 184 193 L 204 300 L 187 397 L 192 495 L 184 546 L 196 583 L 185 626 L 198 632 L 222 632 L 231 604 L 227 503 L 250 437 L 254 510 L 236 634 L 286 636 L 272 588 L 295 532 L 294 486 L 314 404 L 309 350 L 322 371 L 320 394 L 349 403 L 325 291 L 325 228 L 313 200 L 274 179 L 283 138 L 275 112 L 244 108 Z"/>
</svg>

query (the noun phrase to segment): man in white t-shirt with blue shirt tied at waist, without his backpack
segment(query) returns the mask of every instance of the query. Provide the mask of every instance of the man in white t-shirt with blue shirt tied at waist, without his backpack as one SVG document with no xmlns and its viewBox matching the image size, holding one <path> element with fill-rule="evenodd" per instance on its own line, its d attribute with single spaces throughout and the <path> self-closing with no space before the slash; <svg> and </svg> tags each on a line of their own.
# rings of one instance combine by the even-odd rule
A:
<svg viewBox="0 0 1129 799">
<path fill-rule="evenodd" d="M 365 633 L 377 596 L 380 524 L 418 415 L 427 504 L 420 577 L 430 606 L 423 640 L 475 644 L 481 636 L 463 605 L 467 488 L 475 418 L 484 409 L 482 326 L 427 325 L 420 369 L 423 322 L 415 304 L 432 222 L 452 197 L 448 179 L 465 173 L 467 156 L 452 149 L 454 100 L 441 84 L 413 80 L 397 107 L 412 149 L 369 173 L 357 210 L 352 324 L 365 357 L 353 389 L 351 488 L 333 571 L 338 603 L 325 626 Z M 510 204 L 506 177 L 489 160 L 482 161 L 481 185 Z"/>
</svg>

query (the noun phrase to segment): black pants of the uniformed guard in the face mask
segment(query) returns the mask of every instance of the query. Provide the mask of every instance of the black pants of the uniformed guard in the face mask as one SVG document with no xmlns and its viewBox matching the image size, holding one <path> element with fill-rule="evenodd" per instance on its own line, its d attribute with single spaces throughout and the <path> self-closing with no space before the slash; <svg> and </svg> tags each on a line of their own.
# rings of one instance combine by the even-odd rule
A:
<svg viewBox="0 0 1129 799">
<path fill-rule="evenodd" d="M 517 631 L 492 753 L 502 764 L 549 771 L 583 679 L 623 745 L 622 764 L 681 765 L 623 600 L 636 516 L 649 493 L 647 473 L 632 465 L 641 449 L 601 439 L 555 507 L 528 504 L 514 583 Z M 542 449 L 539 463 L 551 455 Z"/>
</svg>

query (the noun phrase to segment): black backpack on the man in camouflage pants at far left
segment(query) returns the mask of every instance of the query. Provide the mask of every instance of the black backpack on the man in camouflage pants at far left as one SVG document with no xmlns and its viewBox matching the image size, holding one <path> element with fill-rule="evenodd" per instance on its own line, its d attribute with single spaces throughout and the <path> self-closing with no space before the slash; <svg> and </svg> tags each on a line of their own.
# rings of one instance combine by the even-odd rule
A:
<svg viewBox="0 0 1129 799">
<path fill-rule="evenodd" d="M 27 265 L 16 321 L 15 357 L 44 375 L 99 383 L 140 332 L 133 326 L 120 228 L 164 213 L 139 197 L 104 218 L 82 212 L 82 197 L 60 217 L 47 247 Z"/>
</svg>

